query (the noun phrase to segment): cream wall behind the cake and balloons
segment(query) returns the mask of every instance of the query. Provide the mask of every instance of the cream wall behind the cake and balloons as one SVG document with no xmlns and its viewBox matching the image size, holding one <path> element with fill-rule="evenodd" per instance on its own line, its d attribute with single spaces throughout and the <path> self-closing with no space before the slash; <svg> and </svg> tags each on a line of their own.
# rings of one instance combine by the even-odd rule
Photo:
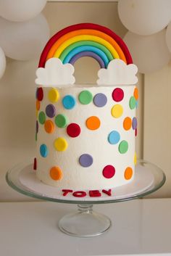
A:
<svg viewBox="0 0 171 256">
<path fill-rule="evenodd" d="M 121 37 L 127 31 L 117 15 L 116 2 L 50 2 L 43 13 L 49 22 L 51 36 L 67 25 L 80 22 L 99 23 Z M 9 168 L 35 154 L 34 80 L 37 65 L 38 59 L 30 62 L 8 59 L 6 73 L 0 80 L 0 201 L 32 200 L 11 189 L 5 174 Z M 77 82 L 95 82 L 98 69 L 91 58 L 78 60 L 75 64 Z M 171 196 L 170 71 L 168 66 L 158 73 L 138 75 L 141 94 L 136 142 L 138 157 L 159 165 L 167 175 L 165 185 L 151 197 Z"/>
</svg>

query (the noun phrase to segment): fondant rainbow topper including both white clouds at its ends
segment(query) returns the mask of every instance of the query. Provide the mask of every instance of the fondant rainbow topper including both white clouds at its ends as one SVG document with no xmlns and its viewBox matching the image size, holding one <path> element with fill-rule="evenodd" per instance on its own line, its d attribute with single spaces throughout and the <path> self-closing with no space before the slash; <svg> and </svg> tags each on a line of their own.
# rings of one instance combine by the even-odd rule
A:
<svg viewBox="0 0 171 256">
<path fill-rule="evenodd" d="M 64 28 L 49 40 L 41 54 L 36 83 L 43 86 L 74 84 L 72 65 L 81 57 L 92 57 L 99 62 L 99 85 L 137 83 L 138 69 L 124 41 L 109 28 L 92 23 Z"/>
</svg>

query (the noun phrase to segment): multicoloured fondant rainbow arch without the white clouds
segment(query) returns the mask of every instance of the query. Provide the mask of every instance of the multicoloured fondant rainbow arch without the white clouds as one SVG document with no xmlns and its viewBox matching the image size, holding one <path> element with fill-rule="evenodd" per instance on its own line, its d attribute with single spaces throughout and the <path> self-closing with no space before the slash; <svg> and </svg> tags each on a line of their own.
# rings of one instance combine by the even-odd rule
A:
<svg viewBox="0 0 171 256">
<path fill-rule="evenodd" d="M 109 28 L 93 23 L 71 25 L 52 36 L 42 51 L 38 67 L 44 67 L 52 57 L 72 65 L 80 57 L 93 57 L 105 68 L 112 59 L 133 63 L 124 41 Z"/>
</svg>

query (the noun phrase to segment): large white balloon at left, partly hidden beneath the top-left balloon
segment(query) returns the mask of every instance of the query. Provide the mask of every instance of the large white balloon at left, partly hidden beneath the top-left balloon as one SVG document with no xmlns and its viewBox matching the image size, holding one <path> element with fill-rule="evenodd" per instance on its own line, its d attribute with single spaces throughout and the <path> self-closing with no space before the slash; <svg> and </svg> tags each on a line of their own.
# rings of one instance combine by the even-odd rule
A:
<svg viewBox="0 0 171 256">
<path fill-rule="evenodd" d="M 27 22 L 11 22 L 0 17 L 0 34 L 0 46 L 7 57 L 34 59 L 49 39 L 49 25 L 41 14 Z"/>
</svg>

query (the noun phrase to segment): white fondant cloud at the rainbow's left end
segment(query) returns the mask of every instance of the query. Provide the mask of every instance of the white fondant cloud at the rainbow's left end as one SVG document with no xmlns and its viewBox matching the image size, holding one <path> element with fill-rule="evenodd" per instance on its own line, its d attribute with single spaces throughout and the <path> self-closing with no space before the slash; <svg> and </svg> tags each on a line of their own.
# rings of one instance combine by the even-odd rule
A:
<svg viewBox="0 0 171 256">
<path fill-rule="evenodd" d="M 51 58 L 46 61 L 45 67 L 36 70 L 36 84 L 41 86 L 66 87 L 75 83 L 73 76 L 74 67 L 70 64 L 63 64 L 58 58 Z"/>
</svg>

